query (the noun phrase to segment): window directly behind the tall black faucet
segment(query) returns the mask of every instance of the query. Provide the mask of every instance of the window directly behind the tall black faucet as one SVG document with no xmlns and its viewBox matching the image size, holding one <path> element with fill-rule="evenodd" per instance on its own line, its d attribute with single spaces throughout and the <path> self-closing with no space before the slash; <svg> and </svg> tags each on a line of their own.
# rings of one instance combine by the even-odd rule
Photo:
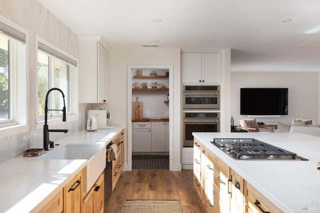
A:
<svg viewBox="0 0 320 213">
<path fill-rule="evenodd" d="M 69 65 L 42 51 L 38 51 L 38 117 L 44 118 L 45 96 L 50 88 L 59 88 L 63 91 L 66 112 L 70 113 L 69 96 Z M 61 110 L 63 99 L 61 93 L 52 91 L 48 96 L 48 109 Z M 48 111 L 48 117 L 61 116 L 62 111 Z"/>
</svg>

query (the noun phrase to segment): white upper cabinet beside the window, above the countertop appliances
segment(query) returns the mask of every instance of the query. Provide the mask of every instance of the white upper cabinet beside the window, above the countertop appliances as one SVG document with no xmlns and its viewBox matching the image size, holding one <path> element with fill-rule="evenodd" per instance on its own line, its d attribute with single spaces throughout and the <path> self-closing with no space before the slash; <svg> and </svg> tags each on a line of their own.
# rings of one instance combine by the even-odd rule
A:
<svg viewBox="0 0 320 213">
<path fill-rule="evenodd" d="M 101 36 L 79 36 L 79 103 L 108 101 L 108 52 Z"/>
</svg>

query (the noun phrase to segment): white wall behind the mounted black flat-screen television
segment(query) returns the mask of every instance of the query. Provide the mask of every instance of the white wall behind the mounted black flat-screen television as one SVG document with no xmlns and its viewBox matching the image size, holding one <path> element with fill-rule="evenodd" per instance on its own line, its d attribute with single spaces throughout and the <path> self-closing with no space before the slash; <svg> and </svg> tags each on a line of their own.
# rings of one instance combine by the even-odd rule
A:
<svg viewBox="0 0 320 213">
<path fill-rule="evenodd" d="M 280 118 L 258 118 L 257 121 L 279 121 L 290 124 L 294 118 L 313 119 L 318 123 L 318 74 L 297 72 L 231 72 L 231 116 L 234 125 L 247 118 L 240 115 L 241 87 L 288 88 L 288 115 Z"/>
</svg>

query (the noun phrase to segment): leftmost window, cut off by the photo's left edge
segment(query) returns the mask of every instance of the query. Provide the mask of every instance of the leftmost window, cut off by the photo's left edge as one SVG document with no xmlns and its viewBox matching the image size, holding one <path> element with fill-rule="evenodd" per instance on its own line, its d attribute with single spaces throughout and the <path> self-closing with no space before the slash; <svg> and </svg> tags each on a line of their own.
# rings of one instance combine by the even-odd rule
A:
<svg viewBox="0 0 320 213">
<path fill-rule="evenodd" d="M 25 66 L 25 34 L 0 22 L 0 126 L 25 123 Z"/>
</svg>

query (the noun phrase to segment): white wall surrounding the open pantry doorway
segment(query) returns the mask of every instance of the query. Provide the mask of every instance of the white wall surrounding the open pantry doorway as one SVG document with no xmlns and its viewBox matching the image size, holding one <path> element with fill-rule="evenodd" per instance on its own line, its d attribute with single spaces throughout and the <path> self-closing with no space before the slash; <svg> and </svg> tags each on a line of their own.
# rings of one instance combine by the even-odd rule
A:
<svg viewBox="0 0 320 213">
<path fill-rule="evenodd" d="M 127 126 L 127 73 L 128 65 L 173 65 L 173 164 L 180 167 L 180 49 L 128 48 L 109 51 L 109 103 L 92 104 L 92 108 L 105 108 L 111 113 L 110 125 Z M 131 85 L 129 85 L 131 88 Z M 171 88 L 170 88 L 171 89 Z M 130 130 L 126 130 L 131 132 Z M 131 141 L 130 135 L 127 136 Z M 127 147 L 125 146 L 125 163 Z"/>
</svg>

